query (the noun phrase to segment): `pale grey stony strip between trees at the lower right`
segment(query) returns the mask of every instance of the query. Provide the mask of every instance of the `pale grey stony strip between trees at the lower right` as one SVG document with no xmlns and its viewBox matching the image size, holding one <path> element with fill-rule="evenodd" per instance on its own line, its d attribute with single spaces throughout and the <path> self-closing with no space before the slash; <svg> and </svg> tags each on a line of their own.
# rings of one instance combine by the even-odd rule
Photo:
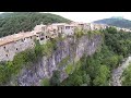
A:
<svg viewBox="0 0 131 98">
<path fill-rule="evenodd" d="M 112 71 L 112 82 L 111 82 L 112 86 L 121 86 L 120 77 L 130 62 L 131 62 L 131 57 L 129 57 L 119 68 Z"/>
</svg>

